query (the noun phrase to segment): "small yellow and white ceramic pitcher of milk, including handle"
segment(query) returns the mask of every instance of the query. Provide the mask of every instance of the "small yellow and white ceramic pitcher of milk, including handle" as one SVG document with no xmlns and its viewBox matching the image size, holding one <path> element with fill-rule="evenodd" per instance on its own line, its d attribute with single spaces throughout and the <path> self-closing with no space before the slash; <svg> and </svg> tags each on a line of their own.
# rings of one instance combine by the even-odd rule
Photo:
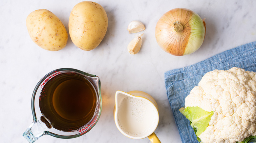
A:
<svg viewBox="0 0 256 143">
<path fill-rule="evenodd" d="M 159 122 L 158 105 L 149 94 L 117 91 L 114 118 L 123 135 L 133 139 L 148 137 L 152 143 L 160 143 L 154 133 Z"/>
</svg>

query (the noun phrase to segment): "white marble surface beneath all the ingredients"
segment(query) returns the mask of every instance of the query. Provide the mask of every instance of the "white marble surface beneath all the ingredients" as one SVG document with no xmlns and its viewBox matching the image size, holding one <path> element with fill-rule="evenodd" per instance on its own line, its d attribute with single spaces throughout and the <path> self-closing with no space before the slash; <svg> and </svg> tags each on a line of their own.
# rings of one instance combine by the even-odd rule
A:
<svg viewBox="0 0 256 143">
<path fill-rule="evenodd" d="M 130 139 L 117 130 L 113 117 L 117 90 L 141 90 L 152 95 L 160 110 L 160 122 L 155 133 L 162 143 L 181 142 L 165 92 L 164 72 L 256 40 L 256 1 L 253 0 L 96 0 L 105 8 L 109 20 L 106 36 L 96 49 L 82 51 L 70 38 L 67 46 L 57 52 L 46 51 L 32 42 L 25 24 L 30 12 L 48 9 L 68 29 L 69 14 L 78 2 L 1 1 L 0 142 L 27 143 L 22 134 L 32 123 L 32 91 L 45 74 L 64 67 L 99 76 L 103 100 L 101 117 L 85 135 L 73 139 L 44 135 L 36 143 L 149 143 L 147 138 Z M 172 56 L 161 50 L 155 40 L 158 19 L 173 8 L 188 8 L 206 18 L 203 45 L 191 55 Z M 130 55 L 126 49 L 135 35 L 127 31 L 129 22 L 133 20 L 139 20 L 146 26 L 137 55 Z"/>
</svg>

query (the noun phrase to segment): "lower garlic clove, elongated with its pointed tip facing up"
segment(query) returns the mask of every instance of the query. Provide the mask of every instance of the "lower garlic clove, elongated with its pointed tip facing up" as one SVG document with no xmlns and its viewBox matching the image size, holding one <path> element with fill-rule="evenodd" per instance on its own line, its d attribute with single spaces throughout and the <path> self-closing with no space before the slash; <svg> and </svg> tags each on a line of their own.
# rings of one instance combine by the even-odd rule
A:
<svg viewBox="0 0 256 143">
<path fill-rule="evenodd" d="M 135 55 L 139 52 L 141 44 L 142 44 L 142 39 L 141 36 L 143 34 L 137 36 L 134 38 L 127 46 L 127 50 L 130 54 Z"/>
</svg>

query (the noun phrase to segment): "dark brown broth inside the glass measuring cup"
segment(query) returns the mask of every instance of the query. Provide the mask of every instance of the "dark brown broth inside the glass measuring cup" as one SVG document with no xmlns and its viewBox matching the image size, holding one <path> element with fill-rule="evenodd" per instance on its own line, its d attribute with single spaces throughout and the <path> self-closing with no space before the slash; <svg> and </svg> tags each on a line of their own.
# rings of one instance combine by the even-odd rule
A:
<svg viewBox="0 0 256 143">
<path fill-rule="evenodd" d="M 96 91 L 90 81 L 75 73 L 61 73 L 44 85 L 39 107 L 53 128 L 70 132 L 93 119 L 96 100 Z"/>
</svg>

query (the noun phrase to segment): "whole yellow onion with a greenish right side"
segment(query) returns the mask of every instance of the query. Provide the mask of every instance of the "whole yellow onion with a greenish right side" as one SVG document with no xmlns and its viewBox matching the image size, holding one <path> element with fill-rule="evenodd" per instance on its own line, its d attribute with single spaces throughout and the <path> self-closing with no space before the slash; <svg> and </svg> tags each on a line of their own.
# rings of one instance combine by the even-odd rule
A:
<svg viewBox="0 0 256 143">
<path fill-rule="evenodd" d="M 203 44 L 205 22 L 189 9 L 175 8 L 159 19 L 155 32 L 157 43 L 165 52 L 183 56 L 195 52 Z"/>
</svg>

